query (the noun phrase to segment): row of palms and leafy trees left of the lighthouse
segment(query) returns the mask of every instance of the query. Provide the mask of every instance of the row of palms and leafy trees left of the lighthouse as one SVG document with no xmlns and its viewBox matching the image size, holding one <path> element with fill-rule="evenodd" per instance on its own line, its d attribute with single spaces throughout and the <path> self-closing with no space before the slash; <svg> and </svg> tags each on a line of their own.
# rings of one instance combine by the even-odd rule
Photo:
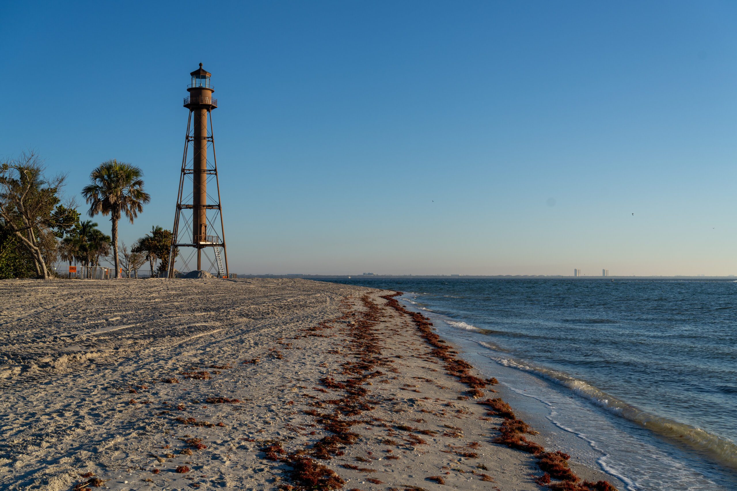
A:
<svg viewBox="0 0 737 491">
<path fill-rule="evenodd" d="M 131 247 L 119 240 L 121 219 L 133 220 L 150 201 L 144 191 L 143 172 L 130 163 L 108 160 L 90 174 L 82 190 L 88 216 L 109 216 L 111 235 L 99 224 L 83 220 L 74 199 L 62 202 L 66 176 L 47 177 L 43 161 L 35 152 L 0 164 L 0 278 L 43 278 L 53 275 L 57 261 L 69 266 L 100 266 L 130 272 L 146 262 L 150 275 L 167 271 L 172 233 L 155 226 Z M 178 251 L 175 250 L 175 256 Z"/>
</svg>

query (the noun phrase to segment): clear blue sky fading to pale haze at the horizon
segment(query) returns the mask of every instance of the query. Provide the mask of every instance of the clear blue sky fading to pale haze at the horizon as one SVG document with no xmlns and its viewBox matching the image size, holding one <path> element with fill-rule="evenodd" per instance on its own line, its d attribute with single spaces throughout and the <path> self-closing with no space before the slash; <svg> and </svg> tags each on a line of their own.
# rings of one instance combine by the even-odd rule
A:
<svg viewBox="0 0 737 491">
<path fill-rule="evenodd" d="M 231 271 L 737 274 L 737 2 L 6 1 L 0 22 L 0 157 L 35 148 L 69 194 L 142 167 L 128 243 L 172 227 L 201 61 Z"/>
</svg>

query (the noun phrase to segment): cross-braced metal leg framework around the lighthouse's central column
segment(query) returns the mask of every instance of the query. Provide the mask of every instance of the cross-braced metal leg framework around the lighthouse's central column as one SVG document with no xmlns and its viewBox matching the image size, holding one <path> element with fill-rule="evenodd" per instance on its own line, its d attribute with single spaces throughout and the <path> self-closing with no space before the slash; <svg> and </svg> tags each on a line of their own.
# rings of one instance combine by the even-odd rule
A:
<svg viewBox="0 0 737 491">
<path fill-rule="evenodd" d="M 189 153 L 189 142 L 195 141 L 195 138 L 201 137 L 195 136 L 192 130 L 192 110 L 190 110 L 189 118 L 187 119 L 186 123 L 184 155 L 182 156 L 181 173 L 179 175 L 179 192 L 177 195 L 177 206 L 174 215 L 174 227 L 172 230 L 172 246 L 169 254 L 169 278 L 174 278 L 174 266 L 176 261 L 181 262 L 181 269 L 179 269 L 180 272 L 191 271 L 192 268 L 190 268 L 189 263 L 195 258 L 195 255 L 204 255 L 206 262 L 209 263 L 209 266 L 207 268 L 203 267 L 202 269 L 205 269 L 208 272 L 212 272 L 220 278 L 222 278 L 223 276 L 225 278 L 228 278 L 228 251 L 226 249 L 226 234 L 225 225 L 223 223 L 223 208 L 220 205 L 220 182 L 217 179 L 217 158 L 215 156 L 215 142 L 212 132 L 212 111 L 209 109 L 207 110 L 207 116 L 209 119 L 209 128 L 205 140 L 207 141 L 206 146 L 208 147 L 208 150 L 212 150 L 212 163 L 211 160 L 208 158 L 207 168 L 203 173 L 207 175 L 205 181 L 206 184 L 211 183 L 214 180 L 215 187 L 217 188 L 217 200 L 215 200 L 214 197 L 212 197 L 209 193 L 206 193 L 208 204 L 200 205 L 200 208 L 205 208 L 206 210 L 215 210 L 213 216 L 207 216 L 207 228 L 208 230 L 219 230 L 220 234 L 218 235 L 216 233 L 212 235 L 209 234 L 207 236 L 200 236 L 195 235 L 194 230 L 192 229 L 192 213 L 196 213 L 195 204 L 192 202 L 194 191 L 191 191 L 189 192 L 189 194 L 184 195 L 184 184 L 190 183 L 190 185 L 192 186 L 189 186 L 189 188 L 193 188 L 194 180 L 192 176 L 193 174 L 195 174 L 196 171 L 193 166 L 194 155 L 192 155 L 192 158 L 189 158 L 189 160 L 187 158 Z M 210 155 L 210 152 L 207 152 L 207 155 Z M 192 213 L 182 213 L 184 210 L 191 210 Z M 220 220 L 218 220 L 218 218 Z M 220 222 L 220 227 L 217 227 L 218 222 Z M 184 241 L 185 237 L 187 238 L 186 241 Z M 189 247 L 192 248 L 192 250 L 179 256 L 178 252 L 180 252 L 180 247 Z M 207 252 L 211 247 L 212 258 Z M 223 250 L 223 256 L 225 259 L 224 267 L 222 264 L 223 261 L 220 257 L 221 248 Z M 206 262 L 202 261 L 202 264 L 206 264 Z"/>
</svg>

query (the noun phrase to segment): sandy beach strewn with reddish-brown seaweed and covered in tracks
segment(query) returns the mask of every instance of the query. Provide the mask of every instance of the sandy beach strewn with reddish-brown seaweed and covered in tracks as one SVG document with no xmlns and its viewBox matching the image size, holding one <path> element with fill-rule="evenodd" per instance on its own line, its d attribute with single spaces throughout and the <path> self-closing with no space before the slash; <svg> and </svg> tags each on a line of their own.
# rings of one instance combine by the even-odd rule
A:
<svg viewBox="0 0 737 491">
<path fill-rule="evenodd" d="M 495 402 L 503 387 L 392 294 L 1 282 L 0 487 L 545 489 L 556 454 L 531 451 L 543 442 Z M 548 489 L 605 489 L 573 460 L 583 481 Z"/>
</svg>

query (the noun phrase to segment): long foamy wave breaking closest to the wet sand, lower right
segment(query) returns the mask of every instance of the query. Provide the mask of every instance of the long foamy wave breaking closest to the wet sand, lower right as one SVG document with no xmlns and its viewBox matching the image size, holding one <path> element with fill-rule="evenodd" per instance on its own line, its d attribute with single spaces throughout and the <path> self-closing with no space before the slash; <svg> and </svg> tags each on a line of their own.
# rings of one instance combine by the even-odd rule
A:
<svg viewBox="0 0 737 491">
<path fill-rule="evenodd" d="M 587 384 L 587 382 L 565 373 L 543 367 L 534 367 L 524 361 L 514 360 L 512 358 L 498 358 L 495 356 L 489 356 L 489 358 L 492 358 L 505 367 L 513 367 L 518 370 L 524 370 L 525 372 L 532 372 L 555 384 L 565 386 L 613 414 L 638 423 L 638 425 L 654 433 L 676 439 L 697 451 L 708 453 L 719 462 L 727 464 L 733 469 L 737 469 L 737 445 L 728 439 L 711 434 L 701 428 L 695 428 L 691 425 L 669 420 L 666 417 L 657 416 L 657 414 L 642 411 L 635 406 L 625 403 L 623 400 L 612 397 L 593 385 Z"/>
</svg>

